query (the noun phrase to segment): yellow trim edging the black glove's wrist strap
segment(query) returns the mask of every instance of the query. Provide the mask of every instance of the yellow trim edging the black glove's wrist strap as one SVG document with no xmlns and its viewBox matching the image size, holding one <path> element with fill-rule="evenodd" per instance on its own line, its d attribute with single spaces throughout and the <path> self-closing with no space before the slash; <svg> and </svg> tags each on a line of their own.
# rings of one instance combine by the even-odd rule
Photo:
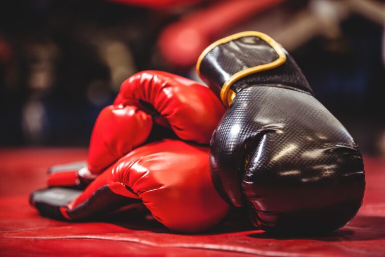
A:
<svg viewBox="0 0 385 257">
<path fill-rule="evenodd" d="M 240 33 L 228 36 L 226 38 L 220 39 L 220 40 L 214 42 L 213 44 L 211 44 L 208 48 L 206 48 L 202 52 L 202 54 L 200 55 L 200 57 L 198 58 L 198 61 L 197 61 L 197 73 L 198 73 L 198 75 L 201 77 L 201 72 L 199 70 L 201 67 L 201 63 L 202 63 L 203 59 L 205 58 L 205 56 L 211 50 L 213 50 L 214 48 L 216 48 L 219 45 L 226 44 L 232 40 L 236 40 L 236 39 L 243 38 L 243 37 L 250 37 L 250 36 L 258 37 L 258 38 L 264 40 L 266 43 L 268 43 L 275 50 L 275 52 L 278 54 L 278 58 L 275 61 L 272 61 L 270 63 L 261 64 L 261 65 L 255 66 L 255 67 L 250 67 L 250 68 L 247 68 L 245 70 L 241 70 L 241 71 L 233 74 L 223 84 L 222 89 L 221 89 L 220 98 L 226 106 L 229 106 L 233 102 L 233 99 L 235 97 L 235 92 L 230 89 L 231 85 L 233 85 L 234 82 L 236 82 L 240 78 L 243 78 L 243 77 L 250 75 L 250 74 L 253 74 L 253 73 L 257 73 L 257 72 L 264 71 L 264 70 L 274 69 L 274 68 L 276 68 L 276 67 L 278 67 L 278 66 L 280 66 L 286 62 L 286 54 L 284 52 L 283 47 L 279 43 L 277 43 L 274 39 L 272 39 L 271 37 L 269 37 L 268 35 L 266 35 L 262 32 L 245 31 L 245 32 L 240 32 Z"/>
</svg>

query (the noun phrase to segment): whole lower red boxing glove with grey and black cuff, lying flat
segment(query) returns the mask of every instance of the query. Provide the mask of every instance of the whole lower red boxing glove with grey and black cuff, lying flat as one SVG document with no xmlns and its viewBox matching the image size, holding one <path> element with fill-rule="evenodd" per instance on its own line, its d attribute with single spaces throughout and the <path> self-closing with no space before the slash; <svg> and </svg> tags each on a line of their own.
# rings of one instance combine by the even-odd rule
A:
<svg viewBox="0 0 385 257">
<path fill-rule="evenodd" d="M 140 199 L 171 230 L 203 231 L 220 222 L 229 209 L 214 188 L 208 158 L 206 147 L 177 140 L 155 142 L 122 157 L 82 193 L 44 189 L 30 200 L 42 215 L 79 220 Z"/>
</svg>

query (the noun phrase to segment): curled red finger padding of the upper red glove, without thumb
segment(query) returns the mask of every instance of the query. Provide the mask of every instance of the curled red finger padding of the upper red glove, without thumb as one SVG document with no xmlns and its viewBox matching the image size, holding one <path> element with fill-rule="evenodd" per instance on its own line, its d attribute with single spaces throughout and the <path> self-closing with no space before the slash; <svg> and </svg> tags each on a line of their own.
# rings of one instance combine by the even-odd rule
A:
<svg viewBox="0 0 385 257">
<path fill-rule="evenodd" d="M 226 111 L 206 85 L 164 71 L 141 71 L 126 79 L 114 105 L 143 108 L 143 101 L 155 108 L 178 138 L 198 144 L 210 143 Z"/>
</svg>

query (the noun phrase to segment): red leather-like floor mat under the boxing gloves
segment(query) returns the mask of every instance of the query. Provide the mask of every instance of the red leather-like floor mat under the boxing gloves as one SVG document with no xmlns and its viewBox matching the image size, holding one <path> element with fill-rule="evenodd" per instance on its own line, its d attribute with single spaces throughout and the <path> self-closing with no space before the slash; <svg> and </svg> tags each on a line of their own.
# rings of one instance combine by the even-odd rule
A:
<svg viewBox="0 0 385 257">
<path fill-rule="evenodd" d="M 277 237 L 227 219 L 205 234 L 172 233 L 138 210 L 90 222 L 40 217 L 28 195 L 47 167 L 86 159 L 83 149 L 0 150 L 0 256 L 385 256 L 385 161 L 365 157 L 366 192 L 357 216 L 332 234 Z"/>
</svg>

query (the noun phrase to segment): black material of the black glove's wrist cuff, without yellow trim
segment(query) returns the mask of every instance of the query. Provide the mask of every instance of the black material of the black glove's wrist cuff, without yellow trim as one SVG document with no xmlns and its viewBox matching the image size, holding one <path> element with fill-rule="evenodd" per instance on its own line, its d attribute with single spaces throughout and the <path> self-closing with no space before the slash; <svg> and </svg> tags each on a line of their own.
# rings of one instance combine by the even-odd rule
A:
<svg viewBox="0 0 385 257">
<path fill-rule="evenodd" d="M 219 95 L 223 84 L 233 74 L 277 58 L 274 49 L 260 38 L 239 38 L 217 46 L 205 56 L 200 66 L 201 79 Z M 246 76 L 235 82 L 231 89 L 240 92 L 251 84 L 274 84 L 313 94 L 301 69 L 289 54 L 281 66 Z"/>
</svg>

